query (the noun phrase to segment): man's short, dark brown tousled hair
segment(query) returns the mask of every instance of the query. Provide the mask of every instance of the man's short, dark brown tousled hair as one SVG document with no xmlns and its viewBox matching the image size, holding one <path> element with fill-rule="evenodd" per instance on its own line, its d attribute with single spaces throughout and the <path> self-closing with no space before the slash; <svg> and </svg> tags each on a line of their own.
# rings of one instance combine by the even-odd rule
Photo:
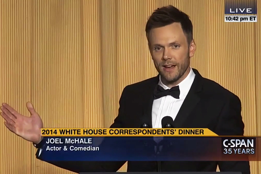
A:
<svg viewBox="0 0 261 174">
<path fill-rule="evenodd" d="M 145 28 L 147 39 L 149 32 L 153 28 L 164 27 L 174 22 L 181 24 L 182 30 L 186 35 L 187 42 L 190 44 L 193 40 L 192 22 L 186 13 L 171 5 L 157 8 L 157 10 L 154 10 L 154 12 L 151 14 Z"/>
</svg>

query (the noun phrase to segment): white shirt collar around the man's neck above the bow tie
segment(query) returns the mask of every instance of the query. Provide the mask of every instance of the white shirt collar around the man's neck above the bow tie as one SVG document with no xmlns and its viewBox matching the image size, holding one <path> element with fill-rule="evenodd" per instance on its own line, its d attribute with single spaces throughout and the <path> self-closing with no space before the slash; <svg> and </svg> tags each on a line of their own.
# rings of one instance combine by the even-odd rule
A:
<svg viewBox="0 0 261 174">
<path fill-rule="evenodd" d="M 180 95 L 183 95 L 189 91 L 189 89 L 194 81 L 194 78 L 195 78 L 195 73 L 193 72 L 192 68 L 190 67 L 190 72 L 187 75 L 187 77 L 183 81 L 181 81 L 179 84 L 177 84 L 177 86 L 179 86 L 179 88 L 180 88 Z M 166 86 L 162 83 L 161 77 L 160 77 L 158 85 L 162 86 L 162 88 L 164 88 L 165 90 L 170 89 L 168 86 Z"/>
</svg>

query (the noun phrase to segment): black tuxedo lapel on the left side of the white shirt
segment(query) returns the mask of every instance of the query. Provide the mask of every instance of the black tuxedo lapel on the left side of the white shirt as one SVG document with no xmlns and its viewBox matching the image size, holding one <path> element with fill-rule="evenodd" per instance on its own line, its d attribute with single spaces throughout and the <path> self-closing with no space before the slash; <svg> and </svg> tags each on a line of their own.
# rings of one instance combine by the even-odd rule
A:
<svg viewBox="0 0 261 174">
<path fill-rule="evenodd" d="M 143 119 L 148 122 L 152 127 L 152 105 L 154 101 L 153 92 L 159 82 L 159 75 L 153 77 L 152 81 L 146 85 L 144 91 L 144 109 L 143 109 Z"/>
</svg>

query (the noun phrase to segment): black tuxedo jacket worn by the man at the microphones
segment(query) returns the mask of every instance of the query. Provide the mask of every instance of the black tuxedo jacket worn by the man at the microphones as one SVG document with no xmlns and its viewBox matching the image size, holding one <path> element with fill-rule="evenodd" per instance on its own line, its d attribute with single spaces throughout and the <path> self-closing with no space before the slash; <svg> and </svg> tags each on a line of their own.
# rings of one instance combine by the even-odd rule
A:
<svg viewBox="0 0 261 174">
<path fill-rule="evenodd" d="M 240 99 L 216 82 L 203 78 L 193 69 L 195 79 L 175 120 L 175 128 L 209 128 L 218 135 L 243 135 Z M 124 88 L 119 100 L 119 114 L 110 128 L 139 128 L 141 120 L 152 125 L 153 90 L 159 75 Z M 41 160 L 41 155 L 37 158 Z M 48 162 L 74 172 L 116 172 L 122 162 Z M 250 174 L 248 161 L 161 162 L 162 172 L 238 171 Z M 156 172 L 156 162 L 128 161 L 128 172 Z"/>
</svg>

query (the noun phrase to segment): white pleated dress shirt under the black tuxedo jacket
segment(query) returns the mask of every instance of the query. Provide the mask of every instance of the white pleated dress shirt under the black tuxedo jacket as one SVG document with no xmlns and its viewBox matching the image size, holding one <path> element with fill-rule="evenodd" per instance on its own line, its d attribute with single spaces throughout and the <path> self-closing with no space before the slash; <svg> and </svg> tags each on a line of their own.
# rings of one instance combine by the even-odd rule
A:
<svg viewBox="0 0 261 174">
<path fill-rule="evenodd" d="M 152 105 L 152 127 L 153 128 L 162 128 L 161 120 L 165 116 L 170 116 L 175 120 L 177 113 L 180 110 L 184 99 L 186 98 L 191 85 L 195 79 L 195 73 L 192 68 L 190 68 L 189 75 L 178 84 L 180 88 L 180 99 L 175 99 L 174 97 L 167 95 L 165 97 L 161 97 L 153 101 Z M 162 86 L 164 89 L 170 89 L 166 85 L 164 85 L 159 80 L 158 85 Z"/>
</svg>

